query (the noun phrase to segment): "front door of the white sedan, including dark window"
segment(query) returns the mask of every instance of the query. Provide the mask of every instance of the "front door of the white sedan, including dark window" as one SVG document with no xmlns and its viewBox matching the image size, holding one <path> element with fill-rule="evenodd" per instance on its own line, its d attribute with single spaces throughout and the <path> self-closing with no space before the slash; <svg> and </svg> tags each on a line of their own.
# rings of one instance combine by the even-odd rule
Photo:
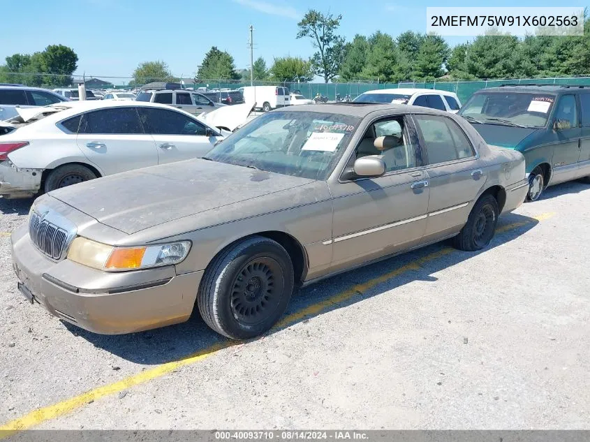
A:
<svg viewBox="0 0 590 442">
<path fill-rule="evenodd" d="M 139 108 L 142 124 L 156 142 L 158 163 L 173 163 L 204 156 L 217 140 L 219 133 L 195 118 L 175 110 Z"/>
</svg>

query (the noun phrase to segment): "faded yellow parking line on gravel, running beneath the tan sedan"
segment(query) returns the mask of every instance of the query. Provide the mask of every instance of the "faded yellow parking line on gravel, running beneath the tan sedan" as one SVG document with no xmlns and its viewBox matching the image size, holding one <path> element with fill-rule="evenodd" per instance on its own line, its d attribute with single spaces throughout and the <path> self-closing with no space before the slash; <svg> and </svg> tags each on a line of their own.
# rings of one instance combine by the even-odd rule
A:
<svg viewBox="0 0 590 442">
<path fill-rule="evenodd" d="M 554 212 L 540 214 L 538 216 L 534 216 L 533 219 L 537 221 L 543 221 L 545 219 L 550 218 L 554 215 Z M 518 223 L 508 224 L 507 226 L 502 226 L 496 230 L 497 233 L 506 232 L 508 230 L 513 230 L 515 228 L 525 226 L 526 224 L 531 223 L 532 221 L 522 221 Z M 342 304 L 350 300 L 353 296 L 363 294 L 378 286 L 385 281 L 388 281 L 394 277 L 398 277 L 401 274 L 409 272 L 411 270 L 419 270 L 422 265 L 428 263 L 429 261 L 436 260 L 441 258 L 441 256 L 448 255 L 455 249 L 451 249 L 450 247 L 445 247 L 439 251 L 434 253 L 430 253 L 429 255 L 419 258 L 411 263 L 403 265 L 391 272 L 382 274 L 379 277 L 369 279 L 364 283 L 356 284 L 355 286 L 344 290 L 337 295 L 334 295 L 327 300 L 320 301 L 316 304 L 312 304 L 309 307 L 306 307 L 300 311 L 295 311 L 292 314 L 285 316 L 279 323 L 274 325 L 273 330 L 279 329 L 281 327 L 285 327 L 286 325 L 296 323 L 297 321 L 301 321 L 302 318 L 306 316 L 311 316 L 314 314 L 318 314 L 321 311 L 325 311 L 330 307 Z M 186 358 L 181 360 L 167 362 L 165 364 L 158 365 L 158 367 L 154 367 L 153 369 L 142 371 L 141 373 L 135 374 L 133 376 L 129 376 L 127 378 L 121 379 L 121 381 L 117 381 L 115 383 L 111 383 L 108 385 L 103 385 L 102 387 L 94 388 L 93 390 L 89 390 L 82 395 L 78 395 L 72 397 L 71 399 L 66 399 L 64 401 L 58 402 L 57 404 L 53 404 L 50 406 L 45 406 L 43 408 L 38 408 L 37 410 L 31 411 L 26 415 L 23 415 L 20 418 L 15 420 L 11 420 L 6 424 L 0 427 L 0 439 L 4 439 L 8 436 L 11 436 L 17 432 L 20 432 L 24 429 L 29 429 L 31 427 L 36 427 L 40 425 L 42 422 L 46 422 L 47 420 L 51 420 L 54 418 L 59 418 L 59 416 L 66 415 L 71 413 L 76 408 L 81 408 L 85 404 L 88 404 L 91 401 L 99 399 L 104 396 L 112 395 L 117 392 L 121 392 L 128 388 L 133 387 L 134 385 L 139 385 L 141 383 L 146 383 L 147 381 L 152 381 L 152 379 L 159 378 L 168 374 L 179 367 L 183 367 L 185 365 L 194 364 L 195 362 L 199 362 L 210 355 L 213 355 L 217 351 L 222 350 L 223 348 L 228 348 L 230 346 L 238 345 L 239 342 L 237 341 L 223 341 L 220 344 L 214 344 L 209 346 L 198 353 L 190 355 Z"/>
</svg>

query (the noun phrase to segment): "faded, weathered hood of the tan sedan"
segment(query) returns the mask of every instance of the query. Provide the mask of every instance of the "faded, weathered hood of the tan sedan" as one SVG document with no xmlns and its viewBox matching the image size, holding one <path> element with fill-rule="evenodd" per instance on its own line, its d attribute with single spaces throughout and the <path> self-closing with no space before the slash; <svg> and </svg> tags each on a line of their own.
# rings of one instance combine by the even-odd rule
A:
<svg viewBox="0 0 590 442">
<path fill-rule="evenodd" d="M 313 180 L 195 159 L 131 170 L 49 195 L 131 235 L 183 216 L 310 182 Z"/>
</svg>

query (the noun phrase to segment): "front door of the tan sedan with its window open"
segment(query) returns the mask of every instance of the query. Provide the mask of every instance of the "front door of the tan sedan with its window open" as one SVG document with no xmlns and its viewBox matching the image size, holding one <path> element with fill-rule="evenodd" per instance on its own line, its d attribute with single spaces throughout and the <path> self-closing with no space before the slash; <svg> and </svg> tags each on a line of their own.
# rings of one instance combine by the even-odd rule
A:
<svg viewBox="0 0 590 442">
<path fill-rule="evenodd" d="M 352 165 L 362 156 L 380 156 L 384 175 L 330 184 L 333 271 L 409 249 L 424 235 L 428 175 L 420 163 L 415 131 L 406 123 L 398 117 L 372 124 L 349 161 Z M 381 149 L 375 147 L 376 139 Z"/>
</svg>

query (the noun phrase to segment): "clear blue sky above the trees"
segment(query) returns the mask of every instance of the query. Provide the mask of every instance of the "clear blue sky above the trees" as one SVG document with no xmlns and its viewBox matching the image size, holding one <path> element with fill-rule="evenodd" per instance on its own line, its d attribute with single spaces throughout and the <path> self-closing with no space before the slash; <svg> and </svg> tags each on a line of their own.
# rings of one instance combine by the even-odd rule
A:
<svg viewBox="0 0 590 442">
<path fill-rule="evenodd" d="M 314 48 L 297 40 L 297 22 L 309 8 L 341 14 L 339 34 L 381 30 L 392 36 L 425 32 L 427 6 L 556 6 L 550 0 L 494 2 L 440 0 L 0 0 L 0 64 L 6 56 L 62 44 L 78 54 L 78 70 L 96 77 L 131 77 L 142 61 L 165 61 L 173 75 L 192 78 L 212 46 L 227 50 L 236 68 L 249 66 L 249 25 L 254 27 L 254 59 L 267 66 L 274 57 L 307 58 Z M 584 6 L 570 0 L 567 6 Z M 10 17 L 10 20 L 6 20 Z M 450 45 L 469 37 L 448 37 Z"/>
</svg>

